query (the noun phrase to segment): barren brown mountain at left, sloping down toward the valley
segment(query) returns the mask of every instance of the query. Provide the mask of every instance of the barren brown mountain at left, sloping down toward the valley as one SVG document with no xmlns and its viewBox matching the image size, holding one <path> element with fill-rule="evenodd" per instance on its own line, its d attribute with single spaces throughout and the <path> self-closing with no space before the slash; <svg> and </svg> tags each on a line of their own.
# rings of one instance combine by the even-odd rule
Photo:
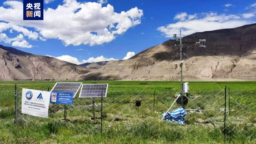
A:
<svg viewBox="0 0 256 144">
<path fill-rule="evenodd" d="M 0 45 L 0 80 L 75 79 L 87 72 L 84 66 Z"/>
</svg>

